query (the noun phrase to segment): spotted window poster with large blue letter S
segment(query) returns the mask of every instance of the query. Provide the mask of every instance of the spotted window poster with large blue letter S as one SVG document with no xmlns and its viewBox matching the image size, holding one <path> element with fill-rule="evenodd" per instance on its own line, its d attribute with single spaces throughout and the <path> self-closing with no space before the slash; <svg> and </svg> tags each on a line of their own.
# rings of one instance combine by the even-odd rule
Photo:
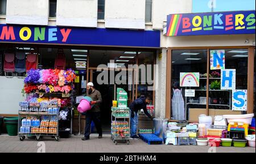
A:
<svg viewBox="0 0 256 164">
<path fill-rule="evenodd" d="M 232 90 L 232 110 L 247 111 L 247 90 Z"/>
</svg>

